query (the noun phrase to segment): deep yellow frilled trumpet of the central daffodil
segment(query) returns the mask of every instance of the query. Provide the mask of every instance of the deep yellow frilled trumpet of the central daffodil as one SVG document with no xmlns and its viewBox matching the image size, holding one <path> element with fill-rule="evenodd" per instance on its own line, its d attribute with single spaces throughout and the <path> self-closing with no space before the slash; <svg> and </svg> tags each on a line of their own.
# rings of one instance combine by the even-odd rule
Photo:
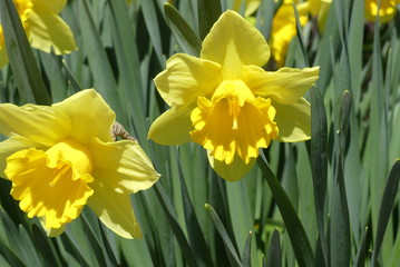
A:
<svg viewBox="0 0 400 267">
<path fill-rule="evenodd" d="M 224 81 L 211 100 L 197 99 L 191 136 L 216 160 L 228 165 L 238 156 L 248 164 L 277 137 L 274 117 L 271 99 L 256 98 L 243 81 Z"/>
</svg>

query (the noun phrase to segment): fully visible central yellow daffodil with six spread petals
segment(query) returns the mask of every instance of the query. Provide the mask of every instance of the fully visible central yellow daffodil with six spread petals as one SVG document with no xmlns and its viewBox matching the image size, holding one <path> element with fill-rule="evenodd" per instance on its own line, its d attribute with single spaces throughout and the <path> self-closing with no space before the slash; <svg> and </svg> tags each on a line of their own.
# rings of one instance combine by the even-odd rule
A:
<svg viewBox="0 0 400 267">
<path fill-rule="evenodd" d="M 265 71 L 269 58 L 262 33 L 226 11 L 205 37 L 199 58 L 174 55 L 155 78 L 170 109 L 148 137 L 162 145 L 202 145 L 211 166 L 231 181 L 252 168 L 258 148 L 271 140 L 310 139 L 310 103 L 302 96 L 319 68 Z"/>
</svg>

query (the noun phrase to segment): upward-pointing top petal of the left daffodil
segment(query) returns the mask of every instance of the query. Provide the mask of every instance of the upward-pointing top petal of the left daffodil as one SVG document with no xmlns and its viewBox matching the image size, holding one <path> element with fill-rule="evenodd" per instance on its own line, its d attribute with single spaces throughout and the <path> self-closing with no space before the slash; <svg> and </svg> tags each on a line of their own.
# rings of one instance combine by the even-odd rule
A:
<svg viewBox="0 0 400 267">
<path fill-rule="evenodd" d="M 89 144 L 94 137 L 103 141 L 114 140 L 111 126 L 115 121 L 115 112 L 94 89 L 77 92 L 51 107 L 70 118 L 72 129 L 70 139 L 80 144 Z"/>
</svg>

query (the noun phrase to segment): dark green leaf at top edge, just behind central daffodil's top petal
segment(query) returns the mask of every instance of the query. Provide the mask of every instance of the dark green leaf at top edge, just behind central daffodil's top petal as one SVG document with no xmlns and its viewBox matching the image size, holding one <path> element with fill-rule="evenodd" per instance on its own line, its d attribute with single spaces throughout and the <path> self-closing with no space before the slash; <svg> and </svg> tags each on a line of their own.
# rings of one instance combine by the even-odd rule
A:
<svg viewBox="0 0 400 267">
<path fill-rule="evenodd" d="M 222 13 L 221 1 L 197 0 L 198 31 L 203 40 Z"/>
</svg>

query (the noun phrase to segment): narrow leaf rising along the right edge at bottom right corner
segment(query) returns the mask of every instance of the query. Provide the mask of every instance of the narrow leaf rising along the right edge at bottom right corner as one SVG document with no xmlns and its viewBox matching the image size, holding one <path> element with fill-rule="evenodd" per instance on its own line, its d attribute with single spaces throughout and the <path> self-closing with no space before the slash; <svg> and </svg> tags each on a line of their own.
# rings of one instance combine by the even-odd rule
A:
<svg viewBox="0 0 400 267">
<path fill-rule="evenodd" d="M 377 237 L 375 237 L 375 244 L 373 246 L 373 253 L 371 259 L 372 267 L 377 266 L 377 259 L 382 246 L 384 231 L 388 227 L 389 218 L 393 209 L 396 195 L 398 192 L 399 180 L 400 180 L 400 159 L 397 159 L 392 169 L 390 170 L 387 186 L 384 188 L 384 192 L 382 197 L 381 208 L 379 210 Z"/>
</svg>

